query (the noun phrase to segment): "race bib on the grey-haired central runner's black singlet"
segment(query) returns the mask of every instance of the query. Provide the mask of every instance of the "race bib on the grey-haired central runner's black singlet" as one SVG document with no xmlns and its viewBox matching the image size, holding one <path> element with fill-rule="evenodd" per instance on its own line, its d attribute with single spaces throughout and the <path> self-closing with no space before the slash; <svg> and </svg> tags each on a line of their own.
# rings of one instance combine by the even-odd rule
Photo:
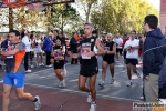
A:
<svg viewBox="0 0 166 111">
<path fill-rule="evenodd" d="M 91 59 L 90 52 L 91 52 L 91 47 L 81 48 L 82 59 Z"/>
</svg>

